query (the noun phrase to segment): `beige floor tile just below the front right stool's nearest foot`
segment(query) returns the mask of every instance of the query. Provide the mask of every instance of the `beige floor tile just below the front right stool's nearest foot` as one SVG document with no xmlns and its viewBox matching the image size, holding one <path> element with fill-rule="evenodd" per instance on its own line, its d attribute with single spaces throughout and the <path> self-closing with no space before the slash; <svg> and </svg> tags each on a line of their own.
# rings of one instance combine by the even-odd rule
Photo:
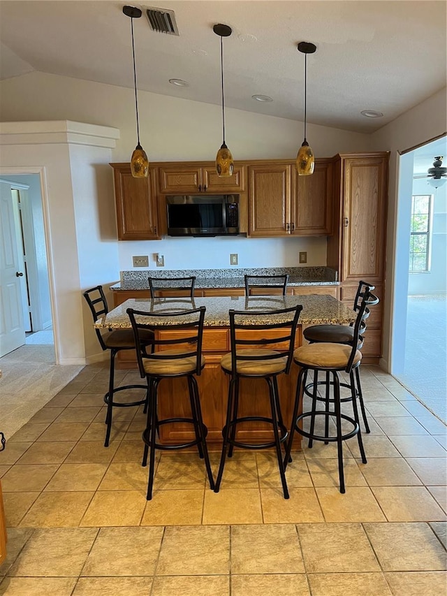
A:
<svg viewBox="0 0 447 596">
<path fill-rule="evenodd" d="M 315 490 L 325 521 L 386 521 L 369 487 L 349 486 L 344 495 L 338 488 Z"/>
</svg>

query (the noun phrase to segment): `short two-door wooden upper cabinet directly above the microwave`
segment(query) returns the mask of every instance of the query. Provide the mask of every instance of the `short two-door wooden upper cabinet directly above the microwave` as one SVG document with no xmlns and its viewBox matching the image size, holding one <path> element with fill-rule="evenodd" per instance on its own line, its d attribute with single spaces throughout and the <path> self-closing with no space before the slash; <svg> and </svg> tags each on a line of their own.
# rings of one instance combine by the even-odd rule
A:
<svg viewBox="0 0 447 596">
<path fill-rule="evenodd" d="M 159 189 L 164 194 L 240 193 L 245 190 L 245 170 L 235 165 L 232 176 L 221 178 L 214 163 L 166 163 L 159 167 Z"/>
</svg>

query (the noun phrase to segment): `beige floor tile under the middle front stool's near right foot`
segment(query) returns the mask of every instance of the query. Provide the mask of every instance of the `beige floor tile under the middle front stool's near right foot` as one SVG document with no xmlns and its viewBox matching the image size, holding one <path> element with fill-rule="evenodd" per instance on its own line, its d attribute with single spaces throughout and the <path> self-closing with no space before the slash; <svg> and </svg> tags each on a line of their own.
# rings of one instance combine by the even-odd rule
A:
<svg viewBox="0 0 447 596">
<path fill-rule="evenodd" d="M 314 488 L 293 488 L 284 499 L 279 488 L 261 488 L 264 523 L 324 521 Z"/>
</svg>

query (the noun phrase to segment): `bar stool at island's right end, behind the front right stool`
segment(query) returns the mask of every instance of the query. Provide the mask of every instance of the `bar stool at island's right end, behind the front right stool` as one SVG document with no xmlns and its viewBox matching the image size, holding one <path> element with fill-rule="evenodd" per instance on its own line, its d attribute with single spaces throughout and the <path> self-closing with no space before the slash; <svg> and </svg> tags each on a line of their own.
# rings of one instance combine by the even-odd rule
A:
<svg viewBox="0 0 447 596">
<path fill-rule="evenodd" d="M 358 289 L 356 291 L 356 297 L 354 298 L 354 305 L 353 310 L 354 312 L 358 312 L 360 310 L 360 305 L 362 303 L 362 299 L 365 296 L 365 292 L 374 291 L 375 286 L 373 284 L 369 284 L 369 282 L 360 281 L 358 282 Z M 379 298 L 374 296 L 374 300 L 372 298 L 369 300 L 367 311 L 365 312 L 365 316 L 362 320 L 362 325 L 360 328 L 360 342 L 361 344 L 358 345 L 358 349 L 362 349 L 363 342 L 365 342 L 365 331 L 367 328 L 366 319 L 369 317 L 369 308 L 378 304 Z M 305 340 L 313 343 L 335 343 L 335 344 L 346 344 L 351 346 L 353 342 L 353 333 L 354 327 L 353 325 L 312 325 L 311 327 L 307 327 L 302 335 L 305 337 Z M 363 402 L 363 393 L 362 393 L 362 385 L 360 383 L 360 366 L 356 367 L 355 370 L 355 388 L 356 388 L 356 395 L 358 397 L 358 402 L 360 404 L 360 409 L 362 412 L 362 419 L 365 425 L 366 433 L 370 433 L 368 419 L 365 411 L 365 403 Z M 313 395 L 313 387 L 314 384 L 318 386 L 321 385 L 328 385 L 330 383 L 329 380 L 329 373 L 326 373 L 326 380 L 325 381 L 318 381 L 318 372 L 314 373 L 314 382 L 305 386 L 305 393 L 312 397 Z M 342 383 L 340 382 L 340 387 L 347 388 L 351 390 L 351 384 Z M 325 401 L 325 397 L 318 397 L 317 400 Z M 350 402 L 351 395 L 346 398 L 341 398 L 341 402 Z"/>
</svg>

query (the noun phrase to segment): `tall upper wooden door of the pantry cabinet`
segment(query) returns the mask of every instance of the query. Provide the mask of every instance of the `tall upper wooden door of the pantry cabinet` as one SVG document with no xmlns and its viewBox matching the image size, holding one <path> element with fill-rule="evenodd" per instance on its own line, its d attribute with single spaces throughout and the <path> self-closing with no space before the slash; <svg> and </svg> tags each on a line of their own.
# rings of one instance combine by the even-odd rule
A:
<svg viewBox="0 0 447 596">
<path fill-rule="evenodd" d="M 344 160 L 341 281 L 383 279 L 388 156 Z"/>
</svg>

